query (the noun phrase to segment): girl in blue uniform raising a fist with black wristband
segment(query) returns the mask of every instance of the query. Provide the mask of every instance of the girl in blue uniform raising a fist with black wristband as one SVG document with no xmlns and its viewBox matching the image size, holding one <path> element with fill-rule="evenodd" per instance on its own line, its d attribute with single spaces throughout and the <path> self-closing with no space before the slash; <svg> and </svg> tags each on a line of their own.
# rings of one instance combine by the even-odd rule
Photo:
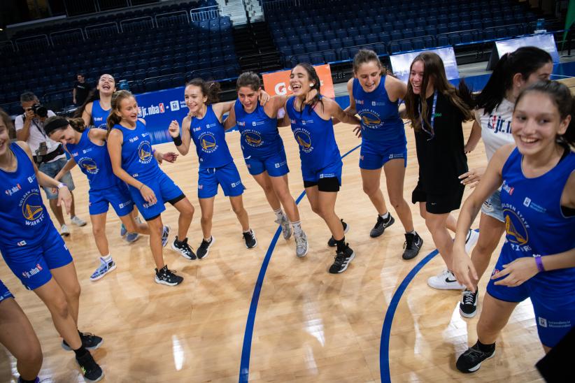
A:
<svg viewBox="0 0 575 383">
<path fill-rule="evenodd" d="M 196 145 L 199 159 L 198 199 L 201 208 L 201 231 L 204 238 L 198 247 L 197 256 L 202 259 L 208 255 L 214 243 L 212 236 L 213 201 L 218 194 L 218 185 L 238 217 L 243 232 L 243 240 L 248 249 L 257 245 L 255 233 L 250 229 L 248 212 L 243 208 L 243 184 L 232 154 L 225 140 L 222 116 L 234 106 L 234 102 L 218 101 L 220 84 L 205 82 L 194 78 L 187 83 L 184 98 L 190 113 L 182 121 L 182 132 L 177 121 L 172 121 L 169 133 L 178 152 L 185 156 L 190 151 L 192 140 Z"/>
</svg>

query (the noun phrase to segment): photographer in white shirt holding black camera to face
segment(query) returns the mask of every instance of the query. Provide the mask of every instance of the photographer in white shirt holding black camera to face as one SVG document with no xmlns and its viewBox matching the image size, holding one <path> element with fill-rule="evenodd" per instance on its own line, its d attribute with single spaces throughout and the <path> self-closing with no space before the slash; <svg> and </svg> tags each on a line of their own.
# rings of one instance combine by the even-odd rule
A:
<svg viewBox="0 0 575 383">
<path fill-rule="evenodd" d="M 64 154 L 62 145 L 50 140 L 44 132 L 45 120 L 47 120 L 48 117 L 55 116 L 55 113 L 45 108 L 45 106 L 42 106 L 40 101 L 38 101 L 38 97 L 32 92 L 22 93 L 20 95 L 20 103 L 24 109 L 24 114 L 16 117 L 16 137 L 18 140 L 24 141 L 29 145 L 34 154 L 34 161 L 38 165 L 38 170 L 54 178 L 55 175 L 64 168 L 64 165 L 66 165 L 66 154 Z M 70 194 L 72 194 L 74 182 L 70 172 L 66 173 L 61 181 L 68 187 Z M 60 224 L 60 235 L 69 236 L 70 231 L 64 222 L 62 206 L 57 205 L 58 194 L 53 193 L 52 190 L 47 187 L 44 187 L 44 192 L 46 193 L 48 201 L 50 201 L 50 209 Z M 70 217 L 73 224 L 78 226 L 84 226 L 86 224 L 83 219 L 76 217 L 73 194 Z"/>
</svg>

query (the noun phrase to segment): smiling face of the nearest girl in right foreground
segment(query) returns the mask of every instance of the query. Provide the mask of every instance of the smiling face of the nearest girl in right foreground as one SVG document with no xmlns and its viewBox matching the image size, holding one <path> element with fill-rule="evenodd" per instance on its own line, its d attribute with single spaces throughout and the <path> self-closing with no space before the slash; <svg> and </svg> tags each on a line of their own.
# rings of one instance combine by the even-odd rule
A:
<svg viewBox="0 0 575 383">
<path fill-rule="evenodd" d="M 547 94 L 528 92 L 513 112 L 511 133 L 517 149 L 523 155 L 534 155 L 553 146 L 556 136 L 569 127 L 571 117 L 561 119 L 557 106 Z"/>
</svg>

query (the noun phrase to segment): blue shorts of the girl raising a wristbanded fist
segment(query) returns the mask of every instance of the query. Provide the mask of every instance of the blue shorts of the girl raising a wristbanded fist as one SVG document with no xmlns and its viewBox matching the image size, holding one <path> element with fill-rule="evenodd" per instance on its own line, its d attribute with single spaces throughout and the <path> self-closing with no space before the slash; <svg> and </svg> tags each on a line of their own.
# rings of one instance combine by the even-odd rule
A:
<svg viewBox="0 0 575 383">
<path fill-rule="evenodd" d="M 243 183 L 234 161 L 220 168 L 199 168 L 198 198 L 212 198 L 218 194 L 218 185 L 227 197 L 243 194 Z"/>
</svg>

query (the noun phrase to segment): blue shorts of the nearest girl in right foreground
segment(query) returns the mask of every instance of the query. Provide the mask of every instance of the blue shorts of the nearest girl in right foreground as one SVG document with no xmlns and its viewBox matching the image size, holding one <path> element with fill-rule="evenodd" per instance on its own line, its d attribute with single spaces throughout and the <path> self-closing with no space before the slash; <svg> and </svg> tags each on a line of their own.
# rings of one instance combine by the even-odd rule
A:
<svg viewBox="0 0 575 383">
<path fill-rule="evenodd" d="M 511 261 L 513 259 L 502 252 L 492 274 L 496 270 L 503 270 L 503 265 Z M 497 280 L 490 280 L 487 292 L 493 298 L 505 302 L 518 303 L 531 298 L 539 340 L 547 347 L 554 347 L 575 326 L 575 296 L 563 293 L 562 287 L 541 284 L 535 278 L 537 275 L 518 287 L 497 285 L 495 284 Z M 553 291 L 555 289 L 557 289 L 556 294 Z M 553 294 L 557 296 L 557 299 L 551 301 L 548 296 L 553 296 Z"/>
</svg>

